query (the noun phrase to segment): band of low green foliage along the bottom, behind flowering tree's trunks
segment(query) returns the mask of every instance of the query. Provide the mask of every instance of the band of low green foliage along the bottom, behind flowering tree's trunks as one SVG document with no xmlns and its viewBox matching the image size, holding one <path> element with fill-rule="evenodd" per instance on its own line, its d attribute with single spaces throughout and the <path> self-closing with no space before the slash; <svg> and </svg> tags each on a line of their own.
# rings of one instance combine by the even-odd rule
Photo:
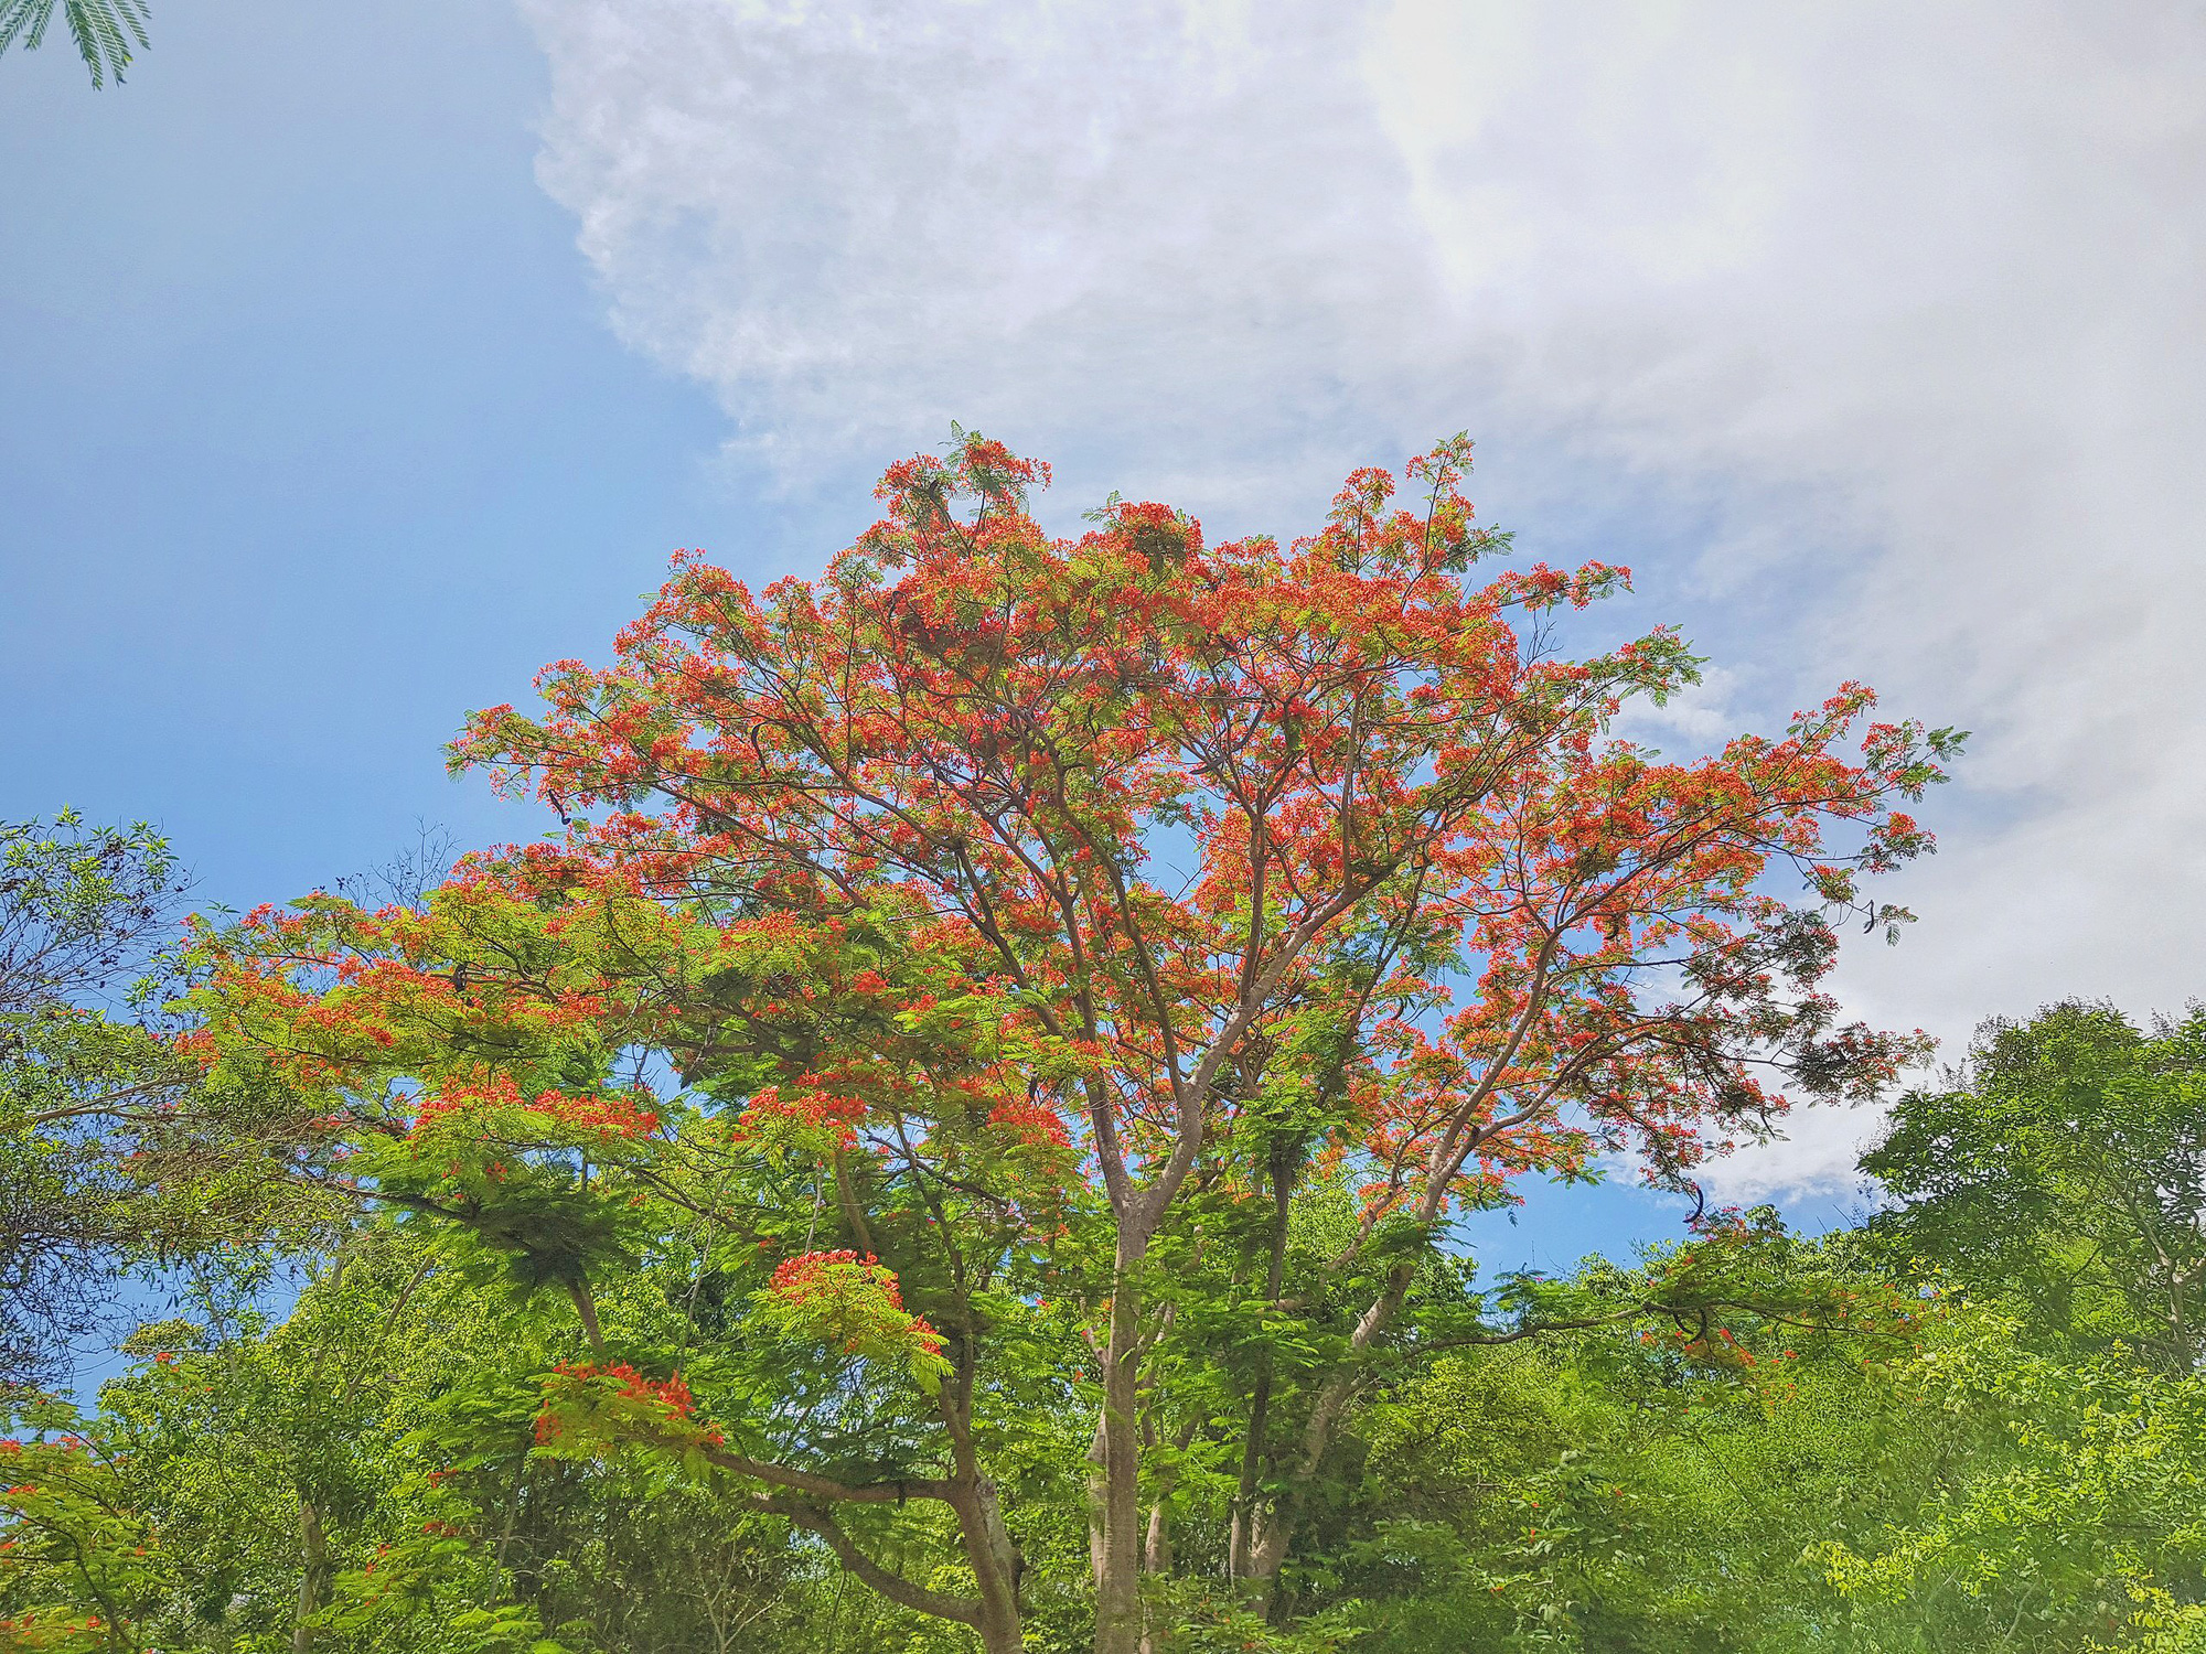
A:
<svg viewBox="0 0 2206 1654">
<path fill-rule="evenodd" d="M 1337 1193 L 1313 1189 L 1297 1220 L 1293 1244 L 1319 1255 L 1341 1222 Z M 2202 1601 L 2199 1381 L 2118 1354 L 2058 1361 L 2018 1336 L 2010 1310 L 1959 1295 L 1910 1292 L 1917 1314 L 1897 1325 L 1860 1237 L 1745 1228 L 1741 1250 L 1694 1264 L 1694 1290 L 1752 1279 L 1789 1297 L 1732 1314 L 1730 1341 L 1657 1312 L 1498 1345 L 1396 1347 L 1326 1464 L 1284 1605 L 1249 1608 L 1216 1572 L 1233 1464 L 1200 1436 L 1160 1460 L 1152 1493 L 1171 1502 L 1182 1539 L 1149 1588 L 1163 1647 L 2184 1647 Z M 715 1374 L 721 1396 L 801 1376 L 772 1345 L 746 1356 L 715 1334 L 713 1295 L 684 1290 L 699 1281 L 697 1253 L 653 1257 L 602 1303 L 615 1354 L 688 1341 L 686 1370 Z M 1661 1306 L 1677 1279 L 1668 1250 L 1502 1297 L 1540 1314 Z M 1202 1295 L 1182 1290 L 1198 1314 Z M 1425 1288 L 1434 1314 L 1452 1317 L 1465 1292 L 1460 1277 Z M 1875 1306 L 1857 1328 L 1802 1325 L 1800 1303 L 1849 1292 Z M 1182 1352 L 1160 1385 L 1224 1405 L 1224 1374 L 1246 1383 L 1268 1352 L 1293 1418 L 1308 1325 L 1202 1312 L 1204 1341 L 1238 1330 L 1238 1343 L 1213 1345 L 1218 1367 Z M 571 1314 L 457 1268 L 417 1226 L 353 1235 L 282 1321 L 183 1317 L 146 1328 L 135 1350 L 141 1365 L 108 1387 L 99 1416 L 24 1407 L 31 1440 L 9 1480 L 38 1491 L 11 1493 L 0 1515 L 15 1539 L 0 1617 L 33 1617 L 53 1647 L 104 1647 L 84 1641 L 86 1614 L 163 1650 L 291 1647 L 298 1623 L 340 1654 L 966 1647 L 957 1628 L 838 1581 L 801 1531 L 746 1515 L 715 1469 L 666 1449 L 660 1403 L 635 1389 L 620 1400 L 613 1381 L 589 1381 L 602 1392 L 589 1429 L 540 1440 L 545 1376 L 585 1354 Z M 754 1378 L 746 1361 L 763 1363 Z M 860 1425 L 854 1409 L 891 1396 L 799 1381 L 781 1405 L 823 1444 L 845 1442 L 840 1469 L 887 1471 L 858 1456 L 882 1414 Z M 627 1431 L 642 1451 L 620 1447 L 607 1405 L 653 1414 Z M 1077 1400 L 990 1420 L 1037 1650 L 1083 1647 L 1090 1420 Z M 858 1533 L 904 1572 L 957 1586 L 949 1535 L 918 1506 Z"/>
</svg>

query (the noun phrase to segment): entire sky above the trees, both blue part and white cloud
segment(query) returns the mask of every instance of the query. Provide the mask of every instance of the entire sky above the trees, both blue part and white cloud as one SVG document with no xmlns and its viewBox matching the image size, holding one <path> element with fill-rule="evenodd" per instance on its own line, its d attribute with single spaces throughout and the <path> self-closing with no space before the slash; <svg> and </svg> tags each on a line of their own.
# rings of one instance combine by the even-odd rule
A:
<svg viewBox="0 0 2206 1654">
<path fill-rule="evenodd" d="M 0 814 L 148 816 L 229 904 L 525 836 L 443 774 L 468 708 L 675 547 L 816 567 L 951 417 L 1224 531 L 1471 426 L 1489 516 L 1723 664 L 1657 734 L 1853 673 L 1985 732 L 1853 1003 L 2173 1006 L 2206 46 L 1952 13 L 203 0 L 124 88 L 11 53 Z M 1829 1222 L 1862 1129 L 1736 1193 Z"/>
</svg>

